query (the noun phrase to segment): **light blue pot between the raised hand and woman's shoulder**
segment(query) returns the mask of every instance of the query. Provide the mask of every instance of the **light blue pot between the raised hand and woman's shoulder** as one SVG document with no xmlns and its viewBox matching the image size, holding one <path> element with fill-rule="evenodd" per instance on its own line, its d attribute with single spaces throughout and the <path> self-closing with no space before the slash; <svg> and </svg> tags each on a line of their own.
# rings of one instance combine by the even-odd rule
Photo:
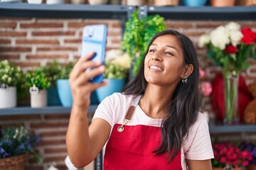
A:
<svg viewBox="0 0 256 170">
<path fill-rule="evenodd" d="M 99 101 L 103 101 L 104 98 L 114 94 L 115 92 L 121 92 L 124 89 L 125 79 L 105 79 L 109 81 L 107 86 L 103 86 L 96 90 Z"/>
</svg>

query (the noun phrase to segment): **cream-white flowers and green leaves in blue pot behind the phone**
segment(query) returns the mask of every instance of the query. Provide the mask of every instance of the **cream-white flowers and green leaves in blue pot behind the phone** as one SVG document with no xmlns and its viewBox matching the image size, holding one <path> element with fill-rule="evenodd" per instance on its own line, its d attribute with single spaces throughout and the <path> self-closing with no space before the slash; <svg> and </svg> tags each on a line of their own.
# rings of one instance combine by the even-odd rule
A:
<svg viewBox="0 0 256 170">
<path fill-rule="evenodd" d="M 105 79 L 126 79 L 129 71 L 129 56 L 120 50 L 107 52 Z"/>
</svg>

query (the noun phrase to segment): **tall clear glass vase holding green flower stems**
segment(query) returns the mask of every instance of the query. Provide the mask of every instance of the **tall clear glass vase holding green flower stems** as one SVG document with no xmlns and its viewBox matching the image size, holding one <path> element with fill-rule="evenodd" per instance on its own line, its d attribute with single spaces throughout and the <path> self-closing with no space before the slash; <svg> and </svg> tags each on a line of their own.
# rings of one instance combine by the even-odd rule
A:
<svg viewBox="0 0 256 170">
<path fill-rule="evenodd" d="M 239 122 L 238 113 L 238 81 L 239 75 L 235 71 L 223 70 L 225 116 L 224 124 Z"/>
</svg>

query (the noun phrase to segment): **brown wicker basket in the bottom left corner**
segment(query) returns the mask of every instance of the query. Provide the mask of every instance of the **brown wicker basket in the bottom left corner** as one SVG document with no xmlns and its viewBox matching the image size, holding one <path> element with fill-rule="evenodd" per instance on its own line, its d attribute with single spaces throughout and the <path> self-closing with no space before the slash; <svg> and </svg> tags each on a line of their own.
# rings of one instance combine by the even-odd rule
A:
<svg viewBox="0 0 256 170">
<path fill-rule="evenodd" d="M 0 170 L 25 170 L 28 155 L 28 153 L 25 153 L 15 157 L 0 159 Z"/>
</svg>

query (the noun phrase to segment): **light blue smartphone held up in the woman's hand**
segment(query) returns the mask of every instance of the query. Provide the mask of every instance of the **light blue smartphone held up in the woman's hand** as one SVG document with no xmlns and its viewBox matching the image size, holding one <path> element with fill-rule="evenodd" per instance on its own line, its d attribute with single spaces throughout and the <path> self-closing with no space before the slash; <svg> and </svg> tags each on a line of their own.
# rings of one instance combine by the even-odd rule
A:
<svg viewBox="0 0 256 170">
<path fill-rule="evenodd" d="M 82 52 L 81 57 L 89 52 L 95 52 L 91 60 L 98 60 L 105 64 L 105 51 L 107 43 L 107 26 L 103 24 L 88 25 L 82 29 Z M 86 71 L 93 69 L 89 68 Z M 85 72 L 86 72 L 85 71 Z M 103 80 L 103 74 L 90 79 L 91 82 L 100 83 Z"/>
</svg>

